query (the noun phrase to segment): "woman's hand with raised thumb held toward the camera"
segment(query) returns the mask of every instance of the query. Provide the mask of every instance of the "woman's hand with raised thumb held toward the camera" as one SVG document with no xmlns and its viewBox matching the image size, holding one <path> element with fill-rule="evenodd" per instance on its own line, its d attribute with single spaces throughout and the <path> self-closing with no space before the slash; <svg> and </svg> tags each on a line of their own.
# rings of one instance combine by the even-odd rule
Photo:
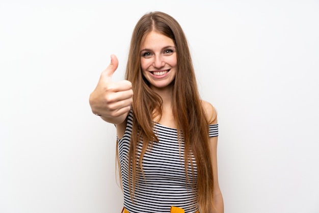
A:
<svg viewBox="0 0 319 213">
<path fill-rule="evenodd" d="M 113 82 L 112 75 L 118 67 L 118 60 L 111 55 L 111 63 L 100 76 L 96 88 L 90 95 L 92 112 L 107 122 L 124 122 L 132 103 L 132 84 L 129 81 Z"/>
</svg>

